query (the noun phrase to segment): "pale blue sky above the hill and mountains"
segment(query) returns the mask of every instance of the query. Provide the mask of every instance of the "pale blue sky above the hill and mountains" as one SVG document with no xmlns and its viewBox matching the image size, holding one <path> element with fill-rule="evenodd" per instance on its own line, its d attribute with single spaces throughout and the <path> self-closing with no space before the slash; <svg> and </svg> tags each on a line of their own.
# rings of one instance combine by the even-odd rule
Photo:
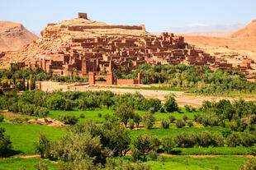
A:
<svg viewBox="0 0 256 170">
<path fill-rule="evenodd" d="M 256 19 L 256 0 L 1 1 L 0 21 L 19 22 L 33 32 L 40 32 L 47 23 L 75 18 L 78 12 L 109 25 L 144 24 L 151 33 L 183 27 L 241 26 Z"/>
</svg>

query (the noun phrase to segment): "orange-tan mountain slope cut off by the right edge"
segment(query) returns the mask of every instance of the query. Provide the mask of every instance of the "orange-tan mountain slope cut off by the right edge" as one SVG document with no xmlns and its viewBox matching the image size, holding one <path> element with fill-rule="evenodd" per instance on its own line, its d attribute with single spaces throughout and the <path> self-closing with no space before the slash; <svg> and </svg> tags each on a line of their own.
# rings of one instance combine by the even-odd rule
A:
<svg viewBox="0 0 256 170">
<path fill-rule="evenodd" d="M 234 34 L 231 34 L 232 38 L 252 38 L 256 37 L 256 20 L 246 25 L 241 30 L 236 31 Z"/>
</svg>

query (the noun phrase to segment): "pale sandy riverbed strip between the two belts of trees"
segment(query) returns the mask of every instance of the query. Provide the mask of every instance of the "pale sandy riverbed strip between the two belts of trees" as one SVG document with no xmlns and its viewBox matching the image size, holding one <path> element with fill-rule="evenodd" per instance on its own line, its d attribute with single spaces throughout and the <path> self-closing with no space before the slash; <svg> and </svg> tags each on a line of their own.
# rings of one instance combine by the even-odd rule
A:
<svg viewBox="0 0 256 170">
<path fill-rule="evenodd" d="M 172 92 L 176 95 L 176 100 L 178 102 L 179 106 L 184 106 L 185 104 L 191 105 L 193 107 L 200 107 L 203 100 L 220 100 L 220 99 L 238 99 L 238 98 L 227 98 L 227 97 L 206 97 L 206 96 L 189 96 L 185 92 L 181 91 L 164 91 L 164 90 L 132 90 L 132 89 L 113 89 L 109 88 L 106 85 L 102 86 L 93 86 L 93 85 L 75 85 L 75 84 L 69 84 L 69 85 L 59 85 L 57 82 L 51 82 L 51 81 L 44 81 L 42 83 L 42 90 L 47 92 L 52 92 L 53 90 L 59 90 L 62 89 L 64 91 L 67 90 L 77 90 L 77 91 L 99 91 L 99 90 L 108 90 L 115 94 L 126 94 L 126 93 L 132 93 L 139 92 L 140 94 L 144 95 L 145 98 L 157 98 L 160 99 L 162 102 L 164 102 L 164 95 Z M 143 86 L 143 85 L 142 85 Z M 250 100 L 252 98 L 244 98 L 245 100 Z M 256 99 L 256 96 L 255 98 Z"/>
</svg>

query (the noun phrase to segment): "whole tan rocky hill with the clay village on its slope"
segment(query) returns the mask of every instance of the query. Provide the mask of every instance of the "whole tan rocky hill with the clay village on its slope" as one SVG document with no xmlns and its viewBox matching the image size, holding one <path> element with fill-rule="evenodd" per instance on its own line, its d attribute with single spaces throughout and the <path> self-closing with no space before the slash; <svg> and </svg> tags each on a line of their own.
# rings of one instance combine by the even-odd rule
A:
<svg viewBox="0 0 256 170">
<path fill-rule="evenodd" d="M 173 34 L 167 35 L 163 34 L 158 37 L 149 34 L 144 25 L 107 25 L 104 22 L 88 20 L 87 16 L 84 18 L 78 16 L 78 18 L 65 20 L 59 24 L 48 24 L 41 31 L 40 39 L 16 52 L 1 54 L 0 67 L 9 67 L 10 63 L 13 62 L 24 62 L 29 65 L 45 67 L 46 65 L 42 61 L 47 60 L 50 62 L 49 68 L 56 67 L 57 70 L 64 71 L 65 69 L 69 70 L 69 67 L 80 66 L 83 60 L 86 60 L 88 67 L 91 67 L 94 64 L 92 60 L 100 58 L 102 63 L 97 62 L 97 64 L 102 64 L 101 67 L 104 69 L 103 66 L 111 65 L 109 58 L 127 62 L 127 58 L 131 57 L 129 59 L 134 60 L 136 64 L 137 62 L 163 62 L 166 64 L 178 62 L 176 57 L 180 56 L 186 57 L 185 61 L 182 62 L 200 62 L 200 64 L 212 62 L 214 67 L 219 65 L 229 67 L 232 63 L 238 66 L 244 62 L 250 62 L 252 67 L 255 67 L 250 60 L 253 57 L 244 59 L 244 53 L 239 54 L 239 57 L 235 59 L 237 54 L 233 54 L 233 52 L 217 54 L 215 49 L 207 50 L 208 46 L 230 48 L 233 44 L 231 41 L 233 38 L 221 38 L 222 41 L 220 41 L 220 38 L 186 35 L 186 43 L 184 43 L 183 37 L 174 37 Z M 237 42 L 241 42 L 240 39 Z M 190 44 L 203 50 L 194 50 Z M 239 47 L 250 47 L 250 44 L 244 44 L 243 41 L 243 45 L 239 44 Z M 204 52 L 213 53 L 209 56 Z M 254 54 L 252 55 L 254 56 Z M 207 58 L 212 59 L 214 56 L 218 61 L 220 59 L 220 62 L 217 60 L 208 61 Z M 237 61 L 232 60 L 232 62 L 226 63 L 228 58 L 234 58 Z"/>
</svg>

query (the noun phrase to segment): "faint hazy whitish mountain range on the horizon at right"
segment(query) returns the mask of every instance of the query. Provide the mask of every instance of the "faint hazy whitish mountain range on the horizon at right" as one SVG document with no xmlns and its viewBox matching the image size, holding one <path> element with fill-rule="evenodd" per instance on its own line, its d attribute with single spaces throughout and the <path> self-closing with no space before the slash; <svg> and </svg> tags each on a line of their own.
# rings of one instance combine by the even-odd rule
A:
<svg viewBox="0 0 256 170">
<path fill-rule="evenodd" d="M 234 24 L 234 25 L 202 25 L 202 24 L 192 24 L 181 27 L 173 27 L 168 30 L 168 32 L 173 32 L 176 34 L 194 34 L 201 36 L 228 36 L 244 27 L 244 24 Z"/>
</svg>

